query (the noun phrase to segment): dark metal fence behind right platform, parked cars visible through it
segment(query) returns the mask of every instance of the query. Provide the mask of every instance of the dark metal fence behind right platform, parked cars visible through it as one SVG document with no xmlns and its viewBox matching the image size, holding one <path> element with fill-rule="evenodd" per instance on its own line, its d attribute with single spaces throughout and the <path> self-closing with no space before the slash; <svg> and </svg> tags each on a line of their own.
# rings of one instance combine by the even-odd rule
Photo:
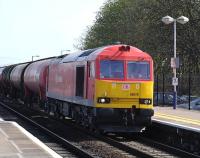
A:
<svg viewBox="0 0 200 158">
<path fill-rule="evenodd" d="M 178 74 L 177 106 L 200 109 L 200 74 Z M 154 105 L 173 106 L 174 88 L 172 86 L 172 73 L 159 73 L 154 76 Z M 193 103 L 193 102 L 197 103 Z M 195 104 L 195 105 L 193 105 Z"/>
</svg>

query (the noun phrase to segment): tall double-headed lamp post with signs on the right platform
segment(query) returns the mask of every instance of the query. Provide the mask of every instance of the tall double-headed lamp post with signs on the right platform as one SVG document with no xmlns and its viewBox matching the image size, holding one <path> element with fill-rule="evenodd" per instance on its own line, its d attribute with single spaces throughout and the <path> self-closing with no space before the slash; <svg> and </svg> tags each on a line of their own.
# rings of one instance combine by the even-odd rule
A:
<svg viewBox="0 0 200 158">
<path fill-rule="evenodd" d="M 171 58 L 171 67 L 173 68 L 173 78 L 172 78 L 172 85 L 174 86 L 174 104 L 173 108 L 176 109 L 177 105 L 177 91 L 176 86 L 178 85 L 178 78 L 176 77 L 176 68 L 179 67 L 179 58 L 176 57 L 176 22 L 180 24 L 185 24 L 189 21 L 189 19 L 185 16 L 181 16 L 177 19 L 174 19 L 170 16 L 165 16 L 162 18 L 162 22 L 165 24 L 174 23 L 174 57 Z"/>
</svg>

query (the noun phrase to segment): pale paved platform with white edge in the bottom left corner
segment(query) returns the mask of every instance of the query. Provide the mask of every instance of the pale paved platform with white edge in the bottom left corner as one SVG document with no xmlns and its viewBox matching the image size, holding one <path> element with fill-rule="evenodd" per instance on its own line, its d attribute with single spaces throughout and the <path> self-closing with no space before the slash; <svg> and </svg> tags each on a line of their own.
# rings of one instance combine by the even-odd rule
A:
<svg viewBox="0 0 200 158">
<path fill-rule="evenodd" d="M 61 158 L 16 122 L 0 120 L 0 158 Z"/>
</svg>

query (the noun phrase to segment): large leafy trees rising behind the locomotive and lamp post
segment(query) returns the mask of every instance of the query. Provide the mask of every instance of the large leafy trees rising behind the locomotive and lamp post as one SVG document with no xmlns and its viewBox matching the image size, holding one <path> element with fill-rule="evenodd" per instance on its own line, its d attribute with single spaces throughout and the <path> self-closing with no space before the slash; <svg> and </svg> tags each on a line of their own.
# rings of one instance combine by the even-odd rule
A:
<svg viewBox="0 0 200 158">
<path fill-rule="evenodd" d="M 173 56 L 173 24 L 165 25 L 161 18 L 186 16 L 189 22 L 177 23 L 177 54 L 181 72 L 199 73 L 200 61 L 200 1 L 199 0 L 108 0 L 96 16 L 93 26 L 81 38 L 80 48 L 88 49 L 121 42 L 150 53 L 156 71 L 163 66 L 170 72 Z M 188 62 L 192 61 L 192 62 Z M 163 61 L 165 60 L 165 65 Z"/>
</svg>

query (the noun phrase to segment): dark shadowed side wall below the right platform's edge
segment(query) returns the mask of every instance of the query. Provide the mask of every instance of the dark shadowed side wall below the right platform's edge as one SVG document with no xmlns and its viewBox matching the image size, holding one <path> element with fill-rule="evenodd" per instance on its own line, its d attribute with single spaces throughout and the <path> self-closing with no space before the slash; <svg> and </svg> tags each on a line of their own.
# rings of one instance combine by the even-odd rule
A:
<svg viewBox="0 0 200 158">
<path fill-rule="evenodd" d="M 178 124 L 155 122 L 153 120 L 152 126 L 145 131 L 144 136 L 145 139 L 149 138 L 160 144 L 173 147 L 171 151 L 180 149 L 191 153 L 190 157 L 192 155 L 200 157 L 200 133 L 196 130 L 191 130 L 191 128 L 185 128 Z"/>
</svg>

